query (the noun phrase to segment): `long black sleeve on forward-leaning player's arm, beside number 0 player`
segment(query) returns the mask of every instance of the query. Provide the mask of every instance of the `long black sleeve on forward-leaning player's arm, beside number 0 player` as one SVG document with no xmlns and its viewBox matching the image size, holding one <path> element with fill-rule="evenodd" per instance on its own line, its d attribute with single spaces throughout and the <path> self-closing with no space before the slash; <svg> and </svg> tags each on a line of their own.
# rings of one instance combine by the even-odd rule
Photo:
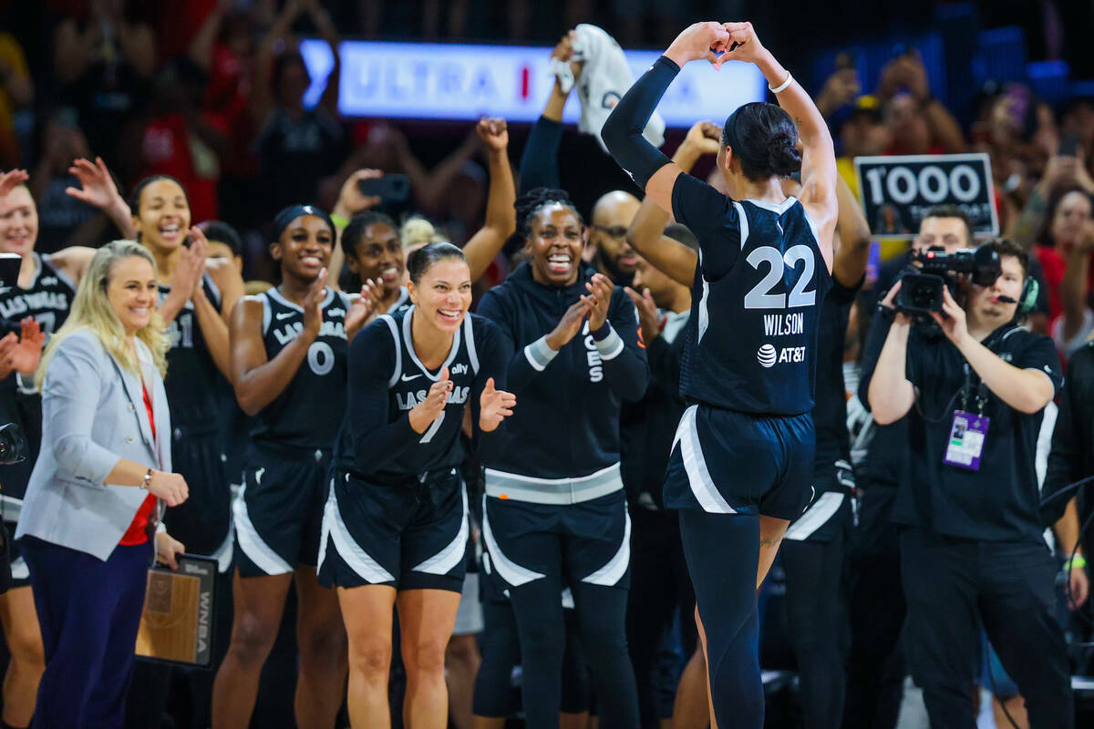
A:
<svg viewBox="0 0 1094 729">
<path fill-rule="evenodd" d="M 395 368 L 391 330 L 376 321 L 353 338 L 349 346 L 350 439 L 359 471 L 373 472 L 395 460 L 420 438 L 410 427 L 409 412 L 392 421 L 387 380 Z"/>
</svg>

